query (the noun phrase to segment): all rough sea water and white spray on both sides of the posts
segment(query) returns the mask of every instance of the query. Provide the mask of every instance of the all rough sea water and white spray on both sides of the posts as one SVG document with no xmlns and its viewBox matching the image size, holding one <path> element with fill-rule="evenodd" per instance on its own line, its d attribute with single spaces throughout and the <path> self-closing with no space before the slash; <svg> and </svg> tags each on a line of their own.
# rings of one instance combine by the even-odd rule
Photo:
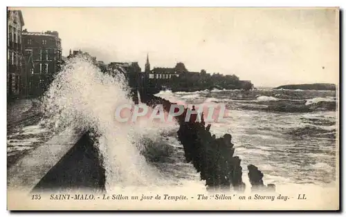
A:
<svg viewBox="0 0 346 217">
<path fill-rule="evenodd" d="M 325 185 L 336 180 L 335 91 L 161 91 L 156 96 L 186 104 L 226 104 L 226 122 L 211 123 L 210 131 L 217 137 L 233 135 L 247 186 L 248 164 L 264 173 L 265 184 Z M 113 115 L 121 104 L 133 104 L 124 77 L 104 75 L 89 62 L 73 59 L 42 100 L 39 120 L 17 124 L 9 131 L 8 156 L 25 154 L 24 150 L 35 149 L 66 128 L 93 129 L 95 146 L 104 158 L 108 190 L 133 186 L 203 189 L 205 182 L 185 162 L 176 135 L 179 125 L 116 122 Z M 290 112 L 293 107 L 309 111 Z"/>
</svg>

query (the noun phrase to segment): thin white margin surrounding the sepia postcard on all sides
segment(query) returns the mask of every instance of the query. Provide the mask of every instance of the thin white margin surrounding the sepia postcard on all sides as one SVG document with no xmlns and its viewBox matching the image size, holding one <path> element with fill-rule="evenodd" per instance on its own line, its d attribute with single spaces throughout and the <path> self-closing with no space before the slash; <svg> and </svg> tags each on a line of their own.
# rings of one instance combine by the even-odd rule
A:
<svg viewBox="0 0 346 217">
<path fill-rule="evenodd" d="M 124 1 L 105 1 L 105 0 L 98 0 L 98 1 L 91 1 L 91 0 L 84 0 L 84 1 L 79 1 L 78 3 L 72 2 L 71 0 L 59 0 L 59 1 L 46 1 L 46 0 L 30 0 L 30 1 L 1 1 L 1 30 L 3 31 L 1 34 L 3 36 L 6 35 L 6 6 L 30 6 L 30 7 L 43 7 L 43 6 L 69 6 L 69 7 L 96 7 L 96 6 L 102 6 L 102 7 L 109 7 L 109 6 L 118 6 L 118 7 L 126 7 L 126 6 L 140 6 L 140 7 L 151 7 L 151 6 L 160 6 L 160 7 L 200 7 L 200 6 L 212 6 L 212 7 L 340 7 L 340 8 L 346 8 L 345 6 L 345 0 L 325 0 L 325 1 L 302 1 L 302 0 L 287 0 L 287 1 L 260 1 L 260 0 L 242 0 L 242 1 L 221 1 L 221 0 L 212 0 L 212 1 L 206 1 L 206 0 L 198 0 L 198 1 L 188 1 L 188 0 L 174 0 L 174 1 L 154 1 L 154 0 L 145 0 L 145 1 L 134 1 L 134 0 L 124 0 Z M 345 15 L 343 16 L 345 17 Z M 25 18 L 24 18 L 25 19 Z M 345 19 L 343 19 L 343 23 Z M 345 39 L 345 37 L 343 37 Z M 3 124 L 1 124 L 1 138 L 3 138 L 3 160 L 2 162 L 2 171 L 0 172 L 0 181 L 1 181 L 1 216 L 8 216 L 10 213 L 6 211 L 6 174 L 7 174 L 7 168 L 6 168 L 6 39 L 3 37 L 3 39 L 0 42 L 2 52 L 0 53 L 0 59 L 2 60 L 0 62 L 1 64 L 1 71 L 3 72 L 1 82 L 3 84 L 1 85 L 1 115 L 3 120 Z M 345 46 L 345 45 L 344 45 Z M 343 46 L 343 47 L 344 47 Z M 343 59 L 340 59 L 340 61 L 345 62 L 345 56 L 343 56 Z M 344 100 L 343 100 L 344 101 Z M 342 129 L 342 133 L 344 133 L 344 129 Z M 343 145 L 343 144 L 341 144 Z M 345 147 L 343 148 L 344 151 L 344 156 L 345 156 Z M 343 167 L 342 173 L 345 174 L 345 167 Z M 341 183 L 340 183 L 341 184 Z M 345 200 L 343 200 L 343 208 L 345 209 Z M 73 213 L 77 214 L 77 213 Z M 72 213 L 69 214 L 64 214 L 64 213 L 59 213 L 57 215 L 64 215 L 64 216 L 72 216 Z M 85 215 L 86 213 L 79 213 L 78 215 Z M 95 214 L 95 213 L 91 213 Z M 135 213 L 127 214 L 128 215 L 134 215 Z M 158 213 L 161 215 L 161 213 Z M 191 215 L 192 213 L 188 214 L 182 214 L 178 213 L 176 215 L 179 216 L 188 216 Z M 212 215 L 211 213 L 206 213 L 207 215 Z M 273 215 L 282 215 L 284 213 L 271 213 Z M 318 216 L 322 213 L 313 213 L 313 216 Z M 24 214 L 21 214 L 24 215 Z M 26 215 L 26 214 L 25 214 Z M 29 215 L 29 214 L 28 214 Z M 36 215 L 36 213 L 32 213 L 31 215 Z M 40 216 L 48 216 L 49 214 L 40 214 Z M 103 214 L 102 216 L 113 216 L 114 214 Z M 116 215 L 125 215 L 123 213 L 118 213 Z M 152 213 L 149 213 L 149 215 L 152 215 Z M 168 215 L 168 214 L 166 214 Z M 169 214 L 168 216 L 171 216 L 172 214 Z M 201 213 L 197 213 L 197 215 L 201 215 Z M 232 215 L 232 216 L 253 216 L 253 215 L 258 215 L 256 214 L 250 214 L 250 213 L 233 213 L 230 212 L 227 215 Z M 268 215 L 268 213 L 264 213 L 264 215 Z M 286 214 L 285 214 L 286 215 Z M 294 216 L 301 216 L 302 214 L 298 213 L 288 213 L 287 215 L 294 215 Z M 328 215 L 333 215 L 333 214 L 328 214 Z"/>
</svg>

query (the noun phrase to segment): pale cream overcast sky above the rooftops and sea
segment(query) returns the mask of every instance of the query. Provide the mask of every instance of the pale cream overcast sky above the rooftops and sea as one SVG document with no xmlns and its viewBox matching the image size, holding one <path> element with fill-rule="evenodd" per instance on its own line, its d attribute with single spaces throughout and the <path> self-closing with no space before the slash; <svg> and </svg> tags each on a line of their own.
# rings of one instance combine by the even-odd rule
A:
<svg viewBox="0 0 346 217">
<path fill-rule="evenodd" d="M 17 8 L 28 31 L 56 30 L 63 55 L 235 74 L 255 86 L 338 83 L 338 10 Z"/>
</svg>

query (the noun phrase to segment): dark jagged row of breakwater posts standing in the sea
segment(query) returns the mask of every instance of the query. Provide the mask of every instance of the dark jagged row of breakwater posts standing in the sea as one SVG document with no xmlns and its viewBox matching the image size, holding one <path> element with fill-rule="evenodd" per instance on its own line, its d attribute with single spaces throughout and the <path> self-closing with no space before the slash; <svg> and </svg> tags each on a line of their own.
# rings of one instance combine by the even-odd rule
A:
<svg viewBox="0 0 346 217">
<path fill-rule="evenodd" d="M 165 111 L 170 111 L 170 106 L 173 104 L 154 95 L 143 97 L 143 102 L 150 106 L 162 104 Z M 242 181 L 240 166 L 242 160 L 234 156 L 232 135 L 226 133 L 223 137 L 216 138 L 210 133 L 210 124 L 205 126 L 203 122 L 185 122 L 185 114 L 186 109 L 185 113 L 176 117 L 180 125 L 178 137 L 183 144 L 185 160 L 194 165 L 200 173 L 201 180 L 206 180 L 207 189 L 229 190 L 232 187 L 235 191 L 244 191 L 245 184 Z M 262 172 L 253 165 L 249 165 L 248 168 L 250 168 L 251 185 L 254 188 L 264 186 Z M 268 185 L 266 189 L 275 191 L 275 185 Z"/>
</svg>

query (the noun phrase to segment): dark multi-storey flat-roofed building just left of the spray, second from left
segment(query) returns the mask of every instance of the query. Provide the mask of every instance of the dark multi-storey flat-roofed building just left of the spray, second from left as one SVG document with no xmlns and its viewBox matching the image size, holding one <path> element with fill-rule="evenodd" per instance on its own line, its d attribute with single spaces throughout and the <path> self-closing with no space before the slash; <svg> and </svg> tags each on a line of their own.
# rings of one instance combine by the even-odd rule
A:
<svg viewBox="0 0 346 217">
<path fill-rule="evenodd" d="M 59 33 L 23 32 L 26 69 L 26 94 L 42 95 L 62 66 L 62 45 Z"/>
</svg>

